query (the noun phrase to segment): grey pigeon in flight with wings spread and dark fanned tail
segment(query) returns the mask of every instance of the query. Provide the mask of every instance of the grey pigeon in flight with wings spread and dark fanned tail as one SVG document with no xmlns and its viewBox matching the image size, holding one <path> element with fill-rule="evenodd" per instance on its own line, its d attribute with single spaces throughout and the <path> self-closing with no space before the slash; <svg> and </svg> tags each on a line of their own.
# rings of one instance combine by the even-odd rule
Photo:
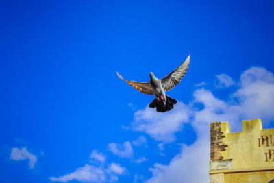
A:
<svg viewBox="0 0 274 183">
<path fill-rule="evenodd" d="M 181 82 L 182 77 L 186 74 L 186 70 L 188 70 L 189 63 L 190 55 L 188 55 L 186 60 L 178 66 L 177 69 L 162 79 L 158 79 L 155 77 L 154 73 L 151 72 L 149 73 L 150 82 L 129 81 L 125 80 L 118 72 L 117 75 L 141 93 L 155 95 L 155 99 L 149 104 L 149 108 L 156 108 L 157 112 L 166 112 L 173 109 L 173 105 L 175 105 L 177 101 L 166 95 L 165 92 L 171 90 Z"/>
</svg>

